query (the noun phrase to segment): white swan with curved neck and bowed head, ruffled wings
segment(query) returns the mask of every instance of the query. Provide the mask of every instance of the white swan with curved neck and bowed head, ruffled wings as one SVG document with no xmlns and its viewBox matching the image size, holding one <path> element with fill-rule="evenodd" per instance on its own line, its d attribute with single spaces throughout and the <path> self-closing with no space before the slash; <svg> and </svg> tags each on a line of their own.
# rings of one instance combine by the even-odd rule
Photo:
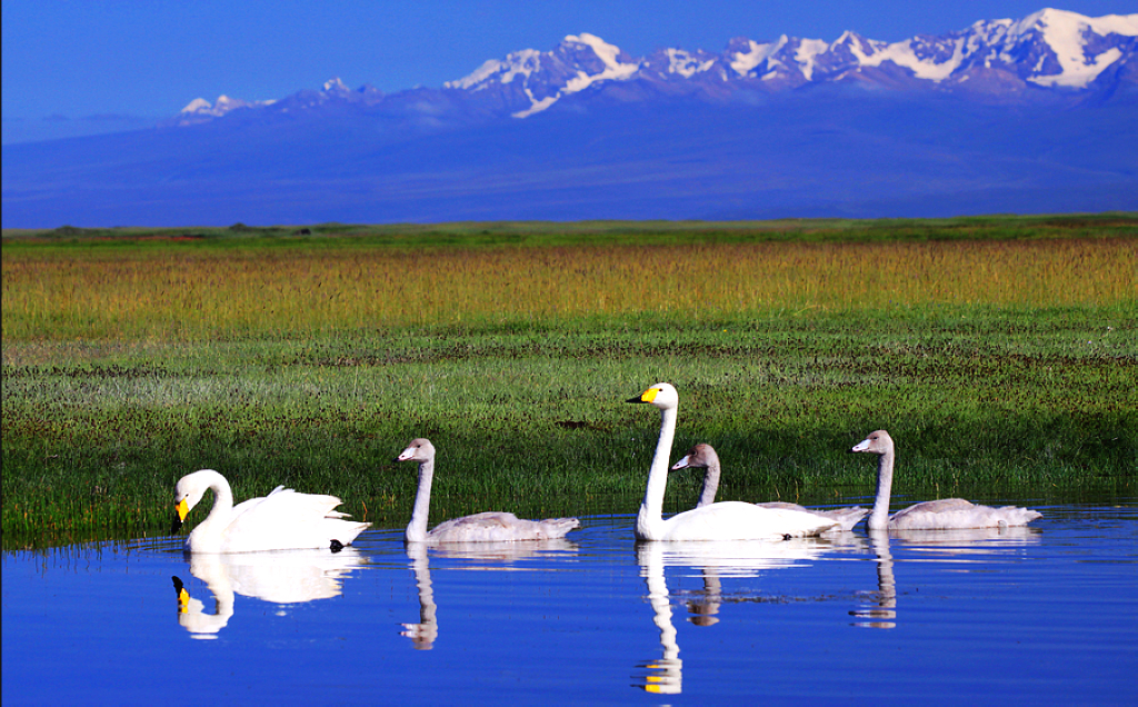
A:
<svg viewBox="0 0 1138 707">
<path fill-rule="evenodd" d="M 174 490 L 176 517 L 171 533 L 176 533 L 190 509 L 201 501 L 207 488 L 214 492 L 214 505 L 198 524 L 185 549 L 190 552 L 257 552 L 330 548 L 337 551 L 352 544 L 370 523 L 343 520 L 346 513 L 333 510 L 336 496 L 297 493 L 278 486 L 267 496 L 233 505 L 229 482 L 213 469 L 201 469 L 178 479 Z"/>
</svg>

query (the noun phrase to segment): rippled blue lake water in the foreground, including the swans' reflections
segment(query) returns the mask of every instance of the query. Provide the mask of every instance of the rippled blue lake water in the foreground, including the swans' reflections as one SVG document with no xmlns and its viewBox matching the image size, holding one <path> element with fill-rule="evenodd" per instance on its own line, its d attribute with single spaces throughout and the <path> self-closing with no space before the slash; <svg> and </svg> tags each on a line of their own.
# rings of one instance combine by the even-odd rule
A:
<svg viewBox="0 0 1138 707">
<path fill-rule="evenodd" d="M 1022 502 L 1021 502 L 1022 503 Z M 1138 704 L 1138 503 L 1011 532 L 3 552 L 20 704 Z M 185 594 L 175 590 L 178 577 Z"/>
</svg>

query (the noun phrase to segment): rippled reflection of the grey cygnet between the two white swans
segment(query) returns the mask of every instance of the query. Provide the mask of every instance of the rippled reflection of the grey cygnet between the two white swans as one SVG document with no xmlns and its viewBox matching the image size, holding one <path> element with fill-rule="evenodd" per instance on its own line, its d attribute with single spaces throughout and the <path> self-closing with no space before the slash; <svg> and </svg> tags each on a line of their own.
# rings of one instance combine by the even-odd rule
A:
<svg viewBox="0 0 1138 707">
<path fill-rule="evenodd" d="M 516 560 L 537 558 L 554 553 L 576 553 L 577 543 L 559 537 L 556 540 L 538 540 L 523 542 L 478 542 L 478 543 L 407 543 L 407 559 L 411 560 L 411 572 L 415 576 L 419 590 L 419 623 L 402 624 L 399 635 L 411 639 L 415 650 L 430 650 L 438 638 L 438 606 L 435 603 L 435 590 L 430 582 L 429 556 L 437 558 L 454 558 L 481 560 L 494 565 L 478 565 L 472 569 L 501 568 Z"/>
</svg>

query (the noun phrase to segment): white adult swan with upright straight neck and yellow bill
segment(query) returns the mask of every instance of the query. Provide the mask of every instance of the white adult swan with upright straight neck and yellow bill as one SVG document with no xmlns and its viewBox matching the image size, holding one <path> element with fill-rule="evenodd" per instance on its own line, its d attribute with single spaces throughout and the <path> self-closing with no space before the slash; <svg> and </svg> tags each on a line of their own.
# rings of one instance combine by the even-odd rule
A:
<svg viewBox="0 0 1138 707">
<path fill-rule="evenodd" d="M 838 525 L 813 513 L 753 503 L 724 501 L 663 519 L 663 492 L 668 484 L 668 457 L 676 436 L 679 394 L 671 384 L 658 383 L 629 403 L 649 403 L 660 410 L 660 439 L 648 474 L 644 501 L 636 516 L 638 540 L 783 540 L 817 535 Z"/>
</svg>

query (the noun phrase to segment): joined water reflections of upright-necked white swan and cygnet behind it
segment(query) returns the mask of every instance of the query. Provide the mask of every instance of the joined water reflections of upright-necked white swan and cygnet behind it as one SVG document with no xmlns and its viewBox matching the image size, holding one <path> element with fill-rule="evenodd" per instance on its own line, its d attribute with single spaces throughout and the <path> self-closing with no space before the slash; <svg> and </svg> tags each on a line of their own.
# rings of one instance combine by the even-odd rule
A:
<svg viewBox="0 0 1138 707">
<path fill-rule="evenodd" d="M 703 591 L 687 601 L 688 618 L 696 626 L 718 623 L 716 615 L 723 602 L 723 577 L 753 577 L 761 570 L 802 566 L 834 548 L 826 539 L 799 537 L 783 542 L 642 542 L 636 545 L 636 561 L 652 605 L 652 622 L 660 630 L 661 656 L 640 663 L 644 674 L 634 675 L 635 687 L 661 694 L 683 691 L 683 660 L 676 627 L 671 622 L 671 600 L 665 579 L 665 567 L 687 567 L 699 570 Z"/>
</svg>

